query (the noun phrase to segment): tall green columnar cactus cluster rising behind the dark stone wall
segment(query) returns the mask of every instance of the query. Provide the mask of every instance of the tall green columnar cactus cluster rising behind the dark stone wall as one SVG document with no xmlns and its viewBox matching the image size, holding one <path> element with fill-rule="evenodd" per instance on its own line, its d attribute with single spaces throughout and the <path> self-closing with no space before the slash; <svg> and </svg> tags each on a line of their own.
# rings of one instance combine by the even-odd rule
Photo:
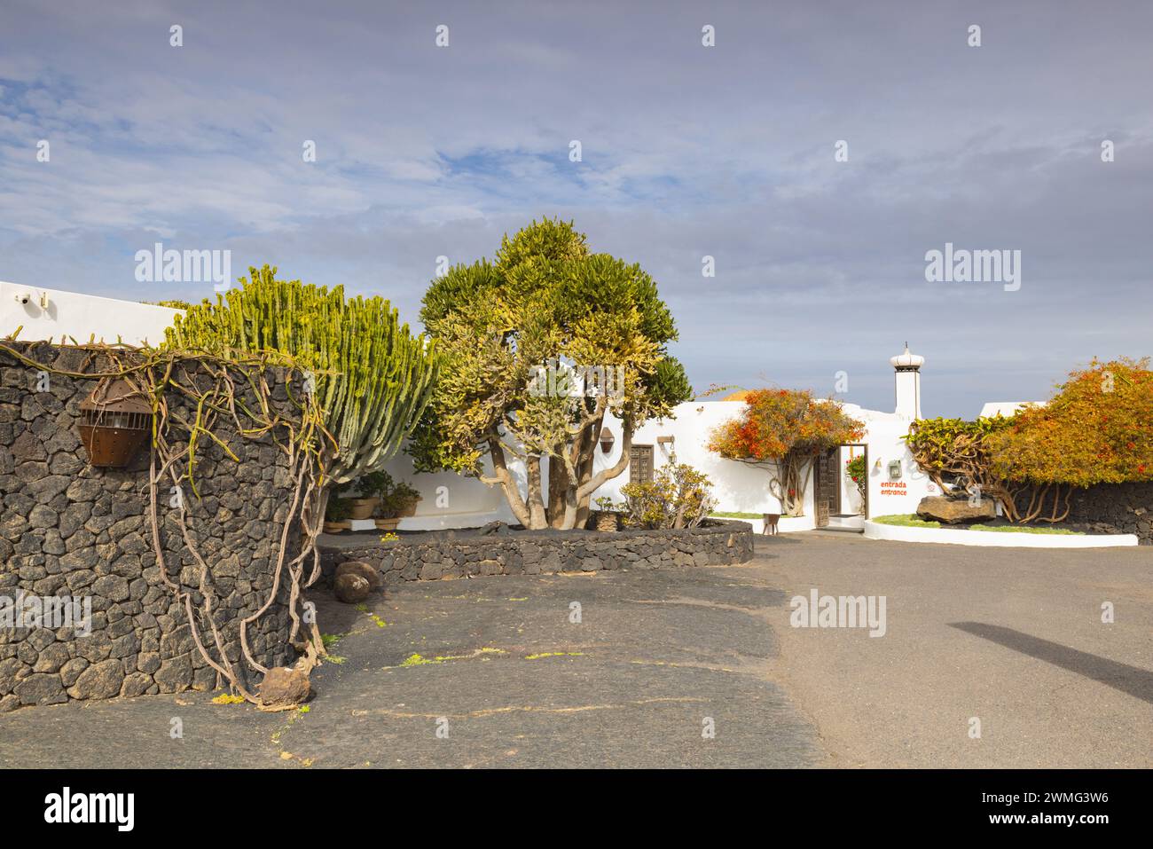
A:
<svg viewBox="0 0 1153 849">
<path fill-rule="evenodd" d="M 412 433 L 436 380 L 436 352 L 386 300 L 345 299 L 342 286 L 306 286 L 276 275 L 274 266 L 249 268 L 240 288 L 178 316 L 165 346 L 217 355 L 277 351 L 310 369 L 339 445 L 327 473 L 337 483 L 353 480 L 393 456 Z"/>
</svg>

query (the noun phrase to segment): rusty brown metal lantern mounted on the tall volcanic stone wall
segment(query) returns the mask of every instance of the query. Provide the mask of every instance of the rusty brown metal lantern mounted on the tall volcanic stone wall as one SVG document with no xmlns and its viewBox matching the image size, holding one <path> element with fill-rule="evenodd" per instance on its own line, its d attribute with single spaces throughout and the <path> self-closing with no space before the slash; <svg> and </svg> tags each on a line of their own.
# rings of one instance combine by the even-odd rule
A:
<svg viewBox="0 0 1153 849">
<path fill-rule="evenodd" d="M 152 407 L 125 380 L 100 383 L 80 403 L 76 429 L 89 463 L 123 468 L 152 430 Z"/>
</svg>

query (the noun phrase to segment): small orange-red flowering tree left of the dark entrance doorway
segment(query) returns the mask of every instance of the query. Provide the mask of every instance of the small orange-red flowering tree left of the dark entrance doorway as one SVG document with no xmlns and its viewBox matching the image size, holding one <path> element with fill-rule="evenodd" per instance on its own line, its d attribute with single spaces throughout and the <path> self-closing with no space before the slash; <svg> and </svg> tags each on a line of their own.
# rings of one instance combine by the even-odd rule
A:
<svg viewBox="0 0 1153 849">
<path fill-rule="evenodd" d="M 800 516 L 813 458 L 864 434 L 865 423 L 834 400 L 808 390 L 758 389 L 745 396 L 740 415 L 713 430 L 709 450 L 768 468 L 769 493 L 785 513 Z"/>
</svg>

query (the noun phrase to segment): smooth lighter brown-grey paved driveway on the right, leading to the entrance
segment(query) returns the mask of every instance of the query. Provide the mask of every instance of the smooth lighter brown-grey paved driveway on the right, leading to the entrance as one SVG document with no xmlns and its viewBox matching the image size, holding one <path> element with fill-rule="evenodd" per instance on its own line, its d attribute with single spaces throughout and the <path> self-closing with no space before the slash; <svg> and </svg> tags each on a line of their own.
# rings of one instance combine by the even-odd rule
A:
<svg viewBox="0 0 1153 849">
<path fill-rule="evenodd" d="M 790 596 L 887 596 L 883 638 L 777 631 L 830 765 L 1153 766 L 1153 548 L 778 540 L 755 571 Z"/>
</svg>

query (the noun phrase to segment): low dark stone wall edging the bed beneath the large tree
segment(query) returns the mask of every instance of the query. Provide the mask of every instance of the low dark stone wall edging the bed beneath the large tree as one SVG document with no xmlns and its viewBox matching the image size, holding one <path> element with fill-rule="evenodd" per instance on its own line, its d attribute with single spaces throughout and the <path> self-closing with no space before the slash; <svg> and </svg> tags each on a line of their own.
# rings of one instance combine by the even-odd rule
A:
<svg viewBox="0 0 1153 849">
<path fill-rule="evenodd" d="M 325 572 L 346 561 L 376 565 L 386 584 L 489 574 L 550 574 L 615 569 L 676 569 L 745 563 L 753 528 L 724 521 L 687 531 L 442 531 L 379 542 L 379 534 L 322 538 Z"/>
</svg>

